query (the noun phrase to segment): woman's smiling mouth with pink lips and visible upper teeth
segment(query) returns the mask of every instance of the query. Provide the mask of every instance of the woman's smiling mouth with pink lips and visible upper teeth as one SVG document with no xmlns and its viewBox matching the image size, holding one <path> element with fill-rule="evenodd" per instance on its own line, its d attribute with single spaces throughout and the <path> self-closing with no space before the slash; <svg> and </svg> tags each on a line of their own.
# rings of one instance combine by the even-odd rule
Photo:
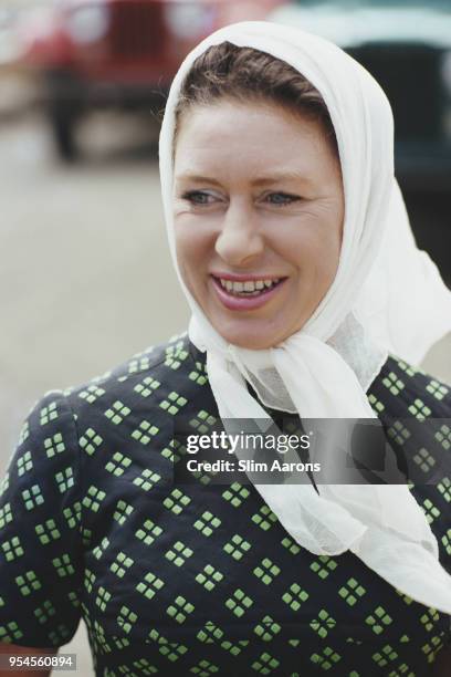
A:
<svg viewBox="0 0 451 677">
<path fill-rule="evenodd" d="M 286 278 L 230 280 L 211 275 L 220 301 L 229 310 L 253 310 L 272 299 Z"/>
</svg>

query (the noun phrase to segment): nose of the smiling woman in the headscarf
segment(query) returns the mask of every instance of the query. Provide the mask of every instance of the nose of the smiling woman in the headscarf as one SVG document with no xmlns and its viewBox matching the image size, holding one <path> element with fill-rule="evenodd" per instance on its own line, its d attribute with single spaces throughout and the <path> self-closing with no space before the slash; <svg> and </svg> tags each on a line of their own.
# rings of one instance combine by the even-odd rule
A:
<svg viewBox="0 0 451 677">
<path fill-rule="evenodd" d="M 258 217 L 251 208 L 230 205 L 222 220 L 216 251 L 230 265 L 239 265 L 264 250 Z"/>
</svg>

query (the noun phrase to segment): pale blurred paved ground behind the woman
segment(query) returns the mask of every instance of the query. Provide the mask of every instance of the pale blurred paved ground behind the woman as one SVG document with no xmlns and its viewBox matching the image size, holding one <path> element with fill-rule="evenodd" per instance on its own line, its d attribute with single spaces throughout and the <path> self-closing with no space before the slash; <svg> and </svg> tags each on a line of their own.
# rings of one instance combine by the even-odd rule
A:
<svg viewBox="0 0 451 677">
<path fill-rule="evenodd" d="M 45 390 L 82 383 L 186 327 L 151 139 L 124 118 L 112 122 L 97 116 L 82 129 L 86 162 L 71 168 L 54 162 L 39 117 L 0 127 L 0 475 Z M 437 216 L 448 215 L 447 206 Z M 450 355 L 448 337 L 426 366 L 451 382 Z M 83 625 L 64 650 L 77 652 L 77 674 L 93 674 Z"/>
</svg>

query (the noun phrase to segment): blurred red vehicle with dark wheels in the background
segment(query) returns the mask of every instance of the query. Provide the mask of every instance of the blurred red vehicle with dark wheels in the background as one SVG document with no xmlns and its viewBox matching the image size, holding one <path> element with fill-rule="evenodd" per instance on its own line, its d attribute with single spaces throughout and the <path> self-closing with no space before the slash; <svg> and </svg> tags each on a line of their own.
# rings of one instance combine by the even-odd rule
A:
<svg viewBox="0 0 451 677">
<path fill-rule="evenodd" d="M 22 28 L 27 67 L 42 77 L 62 158 L 94 106 L 161 110 L 183 56 L 212 31 L 260 20 L 284 0 L 61 0 Z"/>
</svg>

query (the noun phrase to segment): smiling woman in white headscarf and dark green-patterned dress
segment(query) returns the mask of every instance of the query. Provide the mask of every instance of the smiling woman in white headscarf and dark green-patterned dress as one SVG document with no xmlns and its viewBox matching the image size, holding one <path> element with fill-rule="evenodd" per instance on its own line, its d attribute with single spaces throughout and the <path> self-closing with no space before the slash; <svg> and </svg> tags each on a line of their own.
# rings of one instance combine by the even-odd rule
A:
<svg viewBox="0 0 451 677">
<path fill-rule="evenodd" d="M 189 335 L 30 414 L 0 504 L 0 639 L 63 646 L 83 615 L 105 676 L 449 673 L 444 433 L 426 449 L 405 424 L 449 418 L 451 394 L 394 354 L 419 361 L 451 302 L 391 137 L 377 84 L 318 38 L 245 22 L 188 55 L 160 173 Z M 378 417 L 424 480 L 172 482 L 177 430 L 269 417 Z"/>
</svg>

